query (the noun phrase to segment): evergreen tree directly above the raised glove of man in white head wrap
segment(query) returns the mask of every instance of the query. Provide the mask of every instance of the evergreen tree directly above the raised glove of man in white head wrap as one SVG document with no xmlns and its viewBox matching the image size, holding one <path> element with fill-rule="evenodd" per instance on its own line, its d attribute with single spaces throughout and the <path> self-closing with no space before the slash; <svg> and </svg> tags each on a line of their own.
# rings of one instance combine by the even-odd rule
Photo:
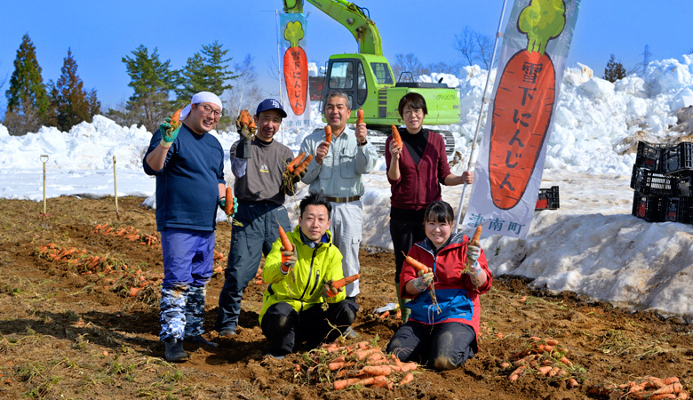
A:
<svg viewBox="0 0 693 400">
<path fill-rule="evenodd" d="M 131 78 L 128 85 L 134 91 L 125 108 L 137 124 L 155 132 L 163 118 L 172 114 L 169 92 L 178 81 L 178 71 L 171 70 L 171 60 L 162 62 L 159 59 L 156 48 L 149 55 L 144 44 L 140 44 L 132 56 L 122 59 Z"/>
</svg>

